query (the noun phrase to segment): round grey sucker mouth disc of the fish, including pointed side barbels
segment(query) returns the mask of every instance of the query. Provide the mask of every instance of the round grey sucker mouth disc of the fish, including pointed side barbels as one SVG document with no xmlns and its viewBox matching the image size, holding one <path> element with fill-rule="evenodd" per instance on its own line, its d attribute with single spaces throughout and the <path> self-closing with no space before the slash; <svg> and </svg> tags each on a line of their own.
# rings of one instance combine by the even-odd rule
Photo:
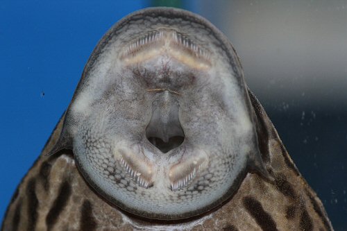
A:
<svg viewBox="0 0 347 231">
<path fill-rule="evenodd" d="M 268 175 L 250 105 L 217 28 L 183 10 L 142 10 L 96 46 L 52 153 L 72 147 L 87 182 L 128 212 L 196 216 L 229 198 L 250 166 Z M 184 141 L 163 153 L 146 130 Z"/>
</svg>

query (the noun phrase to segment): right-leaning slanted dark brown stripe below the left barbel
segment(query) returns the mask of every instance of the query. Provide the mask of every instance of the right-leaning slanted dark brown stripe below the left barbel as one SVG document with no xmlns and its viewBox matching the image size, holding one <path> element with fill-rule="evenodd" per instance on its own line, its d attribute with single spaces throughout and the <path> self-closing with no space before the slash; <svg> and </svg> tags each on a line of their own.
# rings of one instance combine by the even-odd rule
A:
<svg viewBox="0 0 347 231">
<path fill-rule="evenodd" d="M 70 196 L 71 186 L 69 185 L 69 182 L 65 181 L 62 183 L 59 194 L 56 200 L 54 200 L 53 205 L 46 216 L 46 225 L 48 230 L 51 230 L 51 228 L 53 228 L 55 225 L 59 214 L 65 208 L 65 205 L 67 205 L 67 201 L 69 200 Z"/>
</svg>

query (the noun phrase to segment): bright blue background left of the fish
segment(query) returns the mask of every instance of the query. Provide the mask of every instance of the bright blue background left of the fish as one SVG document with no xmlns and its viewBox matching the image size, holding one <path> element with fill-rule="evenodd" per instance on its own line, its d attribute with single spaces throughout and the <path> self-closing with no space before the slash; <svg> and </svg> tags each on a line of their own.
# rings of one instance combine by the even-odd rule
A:
<svg viewBox="0 0 347 231">
<path fill-rule="evenodd" d="M 105 31 L 146 1 L 1 1 L 0 219 Z"/>
</svg>

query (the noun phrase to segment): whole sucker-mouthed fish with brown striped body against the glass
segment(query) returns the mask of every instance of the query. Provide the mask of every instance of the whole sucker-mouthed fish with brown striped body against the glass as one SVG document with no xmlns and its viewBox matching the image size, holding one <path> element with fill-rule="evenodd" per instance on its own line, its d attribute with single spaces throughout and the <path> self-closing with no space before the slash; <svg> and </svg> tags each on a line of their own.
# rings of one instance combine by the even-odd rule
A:
<svg viewBox="0 0 347 231">
<path fill-rule="evenodd" d="M 150 8 L 96 46 L 1 230 L 332 225 L 226 37 L 191 12 Z"/>
</svg>

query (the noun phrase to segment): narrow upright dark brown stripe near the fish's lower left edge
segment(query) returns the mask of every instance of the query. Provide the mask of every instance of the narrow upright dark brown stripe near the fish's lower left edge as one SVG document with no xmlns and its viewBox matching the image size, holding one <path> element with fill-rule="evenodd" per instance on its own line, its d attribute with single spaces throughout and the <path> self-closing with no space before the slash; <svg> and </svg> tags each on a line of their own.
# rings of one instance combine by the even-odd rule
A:
<svg viewBox="0 0 347 231">
<path fill-rule="evenodd" d="M 35 179 L 31 178 L 28 180 L 28 185 L 26 186 L 26 196 L 28 200 L 27 204 L 27 216 L 28 216 L 28 228 L 27 230 L 35 230 L 36 221 L 37 221 L 37 206 L 39 201 L 35 193 Z"/>
</svg>

